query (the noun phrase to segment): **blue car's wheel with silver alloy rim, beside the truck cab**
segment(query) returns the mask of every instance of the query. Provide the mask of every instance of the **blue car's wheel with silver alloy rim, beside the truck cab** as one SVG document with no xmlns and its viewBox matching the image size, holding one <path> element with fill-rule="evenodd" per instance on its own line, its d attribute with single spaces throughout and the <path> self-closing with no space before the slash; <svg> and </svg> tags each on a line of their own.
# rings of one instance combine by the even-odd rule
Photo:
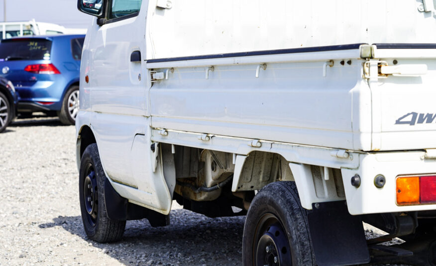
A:
<svg viewBox="0 0 436 266">
<path fill-rule="evenodd" d="M 79 86 L 71 86 L 62 100 L 61 110 L 58 111 L 59 120 L 65 125 L 74 125 L 79 112 Z"/>
</svg>

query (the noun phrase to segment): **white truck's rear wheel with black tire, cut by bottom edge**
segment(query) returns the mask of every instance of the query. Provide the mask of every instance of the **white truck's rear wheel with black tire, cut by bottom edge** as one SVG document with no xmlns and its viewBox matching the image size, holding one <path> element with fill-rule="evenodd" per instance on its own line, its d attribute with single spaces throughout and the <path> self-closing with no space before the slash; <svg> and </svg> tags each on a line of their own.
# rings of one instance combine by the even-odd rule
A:
<svg viewBox="0 0 436 266">
<path fill-rule="evenodd" d="M 313 266 L 306 210 L 295 182 L 274 182 L 254 197 L 242 238 L 244 266 Z"/>
</svg>

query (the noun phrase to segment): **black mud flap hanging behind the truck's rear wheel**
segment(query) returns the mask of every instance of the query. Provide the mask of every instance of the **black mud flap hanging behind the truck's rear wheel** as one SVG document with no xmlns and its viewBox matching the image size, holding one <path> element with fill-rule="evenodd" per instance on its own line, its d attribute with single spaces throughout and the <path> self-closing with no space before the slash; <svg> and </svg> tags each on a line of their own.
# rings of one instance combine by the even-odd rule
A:
<svg viewBox="0 0 436 266">
<path fill-rule="evenodd" d="M 369 263 L 362 218 L 349 214 L 345 201 L 314 203 L 308 213 L 318 266 Z"/>
</svg>

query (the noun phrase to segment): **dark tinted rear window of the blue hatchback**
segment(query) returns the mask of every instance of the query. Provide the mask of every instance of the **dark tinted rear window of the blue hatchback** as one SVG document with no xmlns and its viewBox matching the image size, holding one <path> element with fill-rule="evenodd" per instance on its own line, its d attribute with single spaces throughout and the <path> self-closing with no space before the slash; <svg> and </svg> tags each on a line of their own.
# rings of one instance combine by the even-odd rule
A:
<svg viewBox="0 0 436 266">
<path fill-rule="evenodd" d="M 52 41 L 47 39 L 9 39 L 0 43 L 0 61 L 49 60 Z"/>
</svg>

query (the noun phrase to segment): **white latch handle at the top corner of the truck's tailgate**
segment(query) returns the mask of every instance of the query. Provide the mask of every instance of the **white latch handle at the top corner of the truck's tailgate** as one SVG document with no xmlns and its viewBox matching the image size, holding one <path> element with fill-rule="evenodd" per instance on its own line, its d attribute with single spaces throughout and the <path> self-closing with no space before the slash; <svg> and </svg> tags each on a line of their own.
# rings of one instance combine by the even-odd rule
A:
<svg viewBox="0 0 436 266">
<path fill-rule="evenodd" d="M 380 79 L 389 75 L 413 77 L 427 74 L 426 64 L 388 65 L 386 61 L 368 60 L 363 64 L 363 78 Z"/>
</svg>

